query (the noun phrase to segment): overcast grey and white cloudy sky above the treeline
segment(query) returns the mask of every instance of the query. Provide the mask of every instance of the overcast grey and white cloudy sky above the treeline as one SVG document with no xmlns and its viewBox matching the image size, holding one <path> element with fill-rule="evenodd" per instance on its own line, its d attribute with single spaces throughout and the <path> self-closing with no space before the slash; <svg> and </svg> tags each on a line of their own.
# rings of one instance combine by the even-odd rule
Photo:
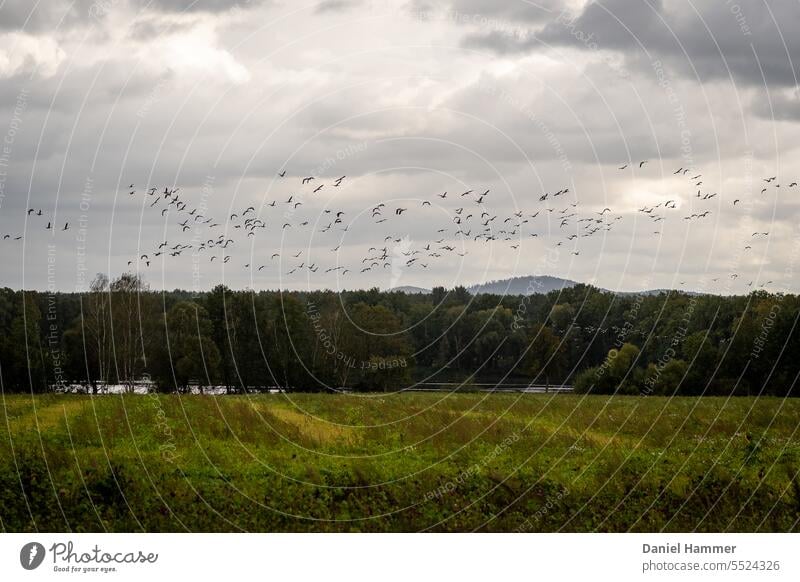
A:
<svg viewBox="0 0 800 582">
<path fill-rule="evenodd" d="M 799 291 L 797 55 L 789 1 L 0 0 L 0 285 Z M 248 206 L 255 236 L 229 218 Z M 220 226 L 184 231 L 190 209 Z M 470 212 L 496 240 L 457 233 Z"/>
</svg>

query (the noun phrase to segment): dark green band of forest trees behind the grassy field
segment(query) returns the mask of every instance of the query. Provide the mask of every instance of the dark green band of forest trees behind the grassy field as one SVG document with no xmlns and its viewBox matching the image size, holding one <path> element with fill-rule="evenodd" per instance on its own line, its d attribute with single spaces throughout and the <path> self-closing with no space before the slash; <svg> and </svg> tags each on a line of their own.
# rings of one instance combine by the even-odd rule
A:
<svg viewBox="0 0 800 582">
<path fill-rule="evenodd" d="M 148 376 L 397 390 L 415 381 L 571 383 L 630 394 L 796 394 L 796 295 L 156 292 L 134 275 L 85 294 L 0 290 L 5 391 Z"/>
</svg>

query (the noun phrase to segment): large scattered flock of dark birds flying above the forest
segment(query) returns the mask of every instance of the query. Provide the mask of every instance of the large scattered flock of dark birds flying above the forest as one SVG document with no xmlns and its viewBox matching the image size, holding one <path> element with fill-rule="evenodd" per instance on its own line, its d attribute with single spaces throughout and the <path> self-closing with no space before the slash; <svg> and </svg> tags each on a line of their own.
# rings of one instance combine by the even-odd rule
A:
<svg viewBox="0 0 800 582">
<path fill-rule="evenodd" d="M 647 164 L 647 160 L 639 162 L 638 167 L 642 169 L 645 164 Z M 628 164 L 625 164 L 618 169 L 624 171 L 627 168 Z M 692 192 L 697 189 L 696 194 L 691 195 L 697 203 L 710 201 L 717 196 L 717 193 L 703 191 L 702 174 L 695 173 L 689 168 L 678 168 L 673 174 L 685 177 L 692 188 Z M 280 172 L 278 177 L 284 179 L 286 170 Z M 187 255 L 200 258 L 207 257 L 207 260 L 211 263 L 218 261 L 227 264 L 234 260 L 234 251 L 243 239 L 255 241 L 267 229 L 270 229 L 271 232 L 276 230 L 283 231 L 282 234 L 284 236 L 288 232 L 304 228 L 313 229 L 317 226 L 321 226 L 318 231 L 320 235 L 337 232 L 346 233 L 351 227 L 357 225 L 358 217 L 351 220 L 345 210 L 325 208 L 316 218 L 314 224 L 310 219 L 297 218 L 298 213 L 301 212 L 300 208 L 307 200 L 307 196 L 324 196 L 323 191 L 325 188 L 340 188 L 346 177 L 341 176 L 329 183 L 321 183 L 315 176 L 304 177 L 300 180 L 301 190 L 298 193 L 289 195 L 285 200 L 271 200 L 269 203 L 264 204 L 260 212 L 254 206 L 248 206 L 239 212 L 231 213 L 223 219 L 215 219 L 212 216 L 208 216 L 200 206 L 191 205 L 179 193 L 179 188 L 164 188 L 163 191 L 155 187 L 149 188 L 144 194 L 143 209 L 156 214 L 156 216 L 160 215 L 168 224 L 172 223 L 176 227 L 176 232 L 178 233 L 176 238 L 178 240 L 159 241 L 154 244 L 152 250 L 132 258 L 127 262 L 127 265 L 129 268 L 147 268 L 159 257 L 177 259 Z M 767 187 L 762 189 L 761 194 L 765 194 L 769 186 L 780 188 L 780 184 L 776 180 L 777 177 L 775 176 L 765 178 L 764 182 Z M 789 187 L 797 187 L 797 182 L 792 182 Z M 129 196 L 137 195 L 134 184 L 131 184 L 128 190 Z M 571 254 L 579 256 L 580 250 L 577 248 L 576 241 L 595 236 L 598 233 L 609 232 L 623 219 L 621 214 L 614 214 L 611 208 L 603 208 L 599 212 L 589 212 L 582 215 L 578 210 L 577 198 L 569 188 L 539 195 L 538 201 L 541 204 L 535 212 L 518 210 L 509 215 L 494 213 L 491 209 L 492 198 L 491 190 L 487 189 L 466 190 L 457 193 L 443 192 L 434 194 L 430 200 L 416 200 L 394 207 L 389 207 L 386 203 L 380 202 L 370 208 L 367 213 L 368 220 L 374 225 L 387 223 L 380 229 L 383 233 L 388 232 L 390 234 L 386 234 L 382 241 L 378 240 L 367 247 L 363 251 L 359 263 L 340 264 L 339 251 L 343 245 L 342 235 L 340 234 L 338 241 L 331 241 L 331 245 L 334 242 L 338 243 L 329 249 L 333 255 L 331 264 L 328 264 L 329 257 L 318 257 L 313 261 L 311 260 L 312 257 L 303 257 L 303 253 L 306 252 L 303 250 L 297 253 L 287 253 L 283 257 L 288 265 L 285 274 L 292 275 L 298 272 L 314 274 L 321 271 L 322 273 L 337 273 L 340 276 L 344 276 L 353 272 L 368 273 L 397 266 L 404 269 L 427 269 L 434 261 L 446 260 L 452 256 L 466 256 L 469 252 L 467 248 L 469 243 L 488 244 L 502 241 L 504 243 L 508 242 L 511 249 L 517 250 L 525 239 L 539 236 L 558 239 L 553 241 L 556 247 L 560 247 L 565 243 L 572 243 Z M 448 225 L 438 229 L 429 240 L 420 243 L 416 249 L 412 248 L 409 239 L 404 235 L 391 234 L 392 231 L 396 233 L 398 230 L 408 232 L 414 224 L 421 224 L 421 221 L 417 223 L 406 221 L 417 221 L 420 213 L 432 210 L 433 200 L 436 201 L 438 207 L 451 207 L 447 209 L 450 217 Z M 740 199 L 738 198 L 733 200 L 733 206 L 736 206 L 739 202 Z M 694 205 L 692 204 L 692 206 Z M 667 219 L 670 211 L 676 210 L 678 210 L 678 200 L 669 199 L 654 206 L 643 206 L 638 209 L 638 212 L 652 221 L 653 234 L 660 235 L 659 223 Z M 274 214 L 278 214 L 279 218 L 273 216 Z M 533 228 L 533 221 L 540 214 L 543 218 L 547 217 L 548 214 L 551 215 L 548 217 L 551 219 L 549 221 L 551 227 L 547 235 L 542 235 L 537 232 L 537 229 Z M 711 214 L 712 210 L 704 209 L 682 216 L 682 218 L 686 221 L 703 220 Z M 29 208 L 27 215 L 31 218 L 43 217 L 43 221 L 47 220 L 41 209 Z M 399 228 L 392 228 L 394 226 Z M 54 230 L 55 228 L 52 220 L 49 220 L 45 230 Z M 69 222 L 65 222 L 64 226 L 59 230 L 69 230 Z M 181 241 L 181 235 L 184 235 L 185 238 L 186 233 L 189 233 L 188 236 L 191 236 L 191 240 Z M 752 238 L 755 241 L 768 236 L 768 232 L 754 232 Z M 22 240 L 22 235 L 2 235 L 2 240 L 8 239 L 19 241 Z M 255 243 L 253 243 L 254 248 L 255 246 Z M 747 244 L 744 250 L 750 250 L 751 248 L 752 244 Z M 261 272 L 264 269 L 281 268 L 284 264 L 281 260 L 281 252 L 270 253 L 268 251 L 263 257 L 259 257 L 261 260 L 255 260 L 257 254 L 254 251 L 251 253 L 254 259 L 241 261 L 244 269 Z M 730 273 L 729 276 L 734 280 L 739 277 L 737 273 Z M 717 280 L 718 278 L 714 279 L 714 281 Z M 752 286 L 753 282 L 749 285 Z"/>
</svg>

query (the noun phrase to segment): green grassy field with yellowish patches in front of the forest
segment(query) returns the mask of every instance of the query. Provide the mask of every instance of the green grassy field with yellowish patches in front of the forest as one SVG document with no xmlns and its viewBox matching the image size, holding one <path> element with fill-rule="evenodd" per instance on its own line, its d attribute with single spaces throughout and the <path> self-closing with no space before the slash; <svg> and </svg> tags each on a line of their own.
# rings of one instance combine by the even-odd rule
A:
<svg viewBox="0 0 800 582">
<path fill-rule="evenodd" d="M 798 531 L 800 401 L 5 395 L 4 531 Z"/>
</svg>

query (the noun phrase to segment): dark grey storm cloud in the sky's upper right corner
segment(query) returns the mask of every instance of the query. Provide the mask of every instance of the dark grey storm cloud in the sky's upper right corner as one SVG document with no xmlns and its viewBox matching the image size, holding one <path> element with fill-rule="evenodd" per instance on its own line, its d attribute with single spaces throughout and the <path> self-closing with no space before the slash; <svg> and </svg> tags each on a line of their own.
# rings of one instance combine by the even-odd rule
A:
<svg viewBox="0 0 800 582">
<path fill-rule="evenodd" d="M 800 54 L 800 9 L 794 2 L 606 0 L 576 14 L 559 13 L 529 34 L 495 30 L 467 35 L 466 46 L 500 54 L 527 53 L 545 45 L 622 53 L 649 69 L 663 60 L 701 81 L 733 78 L 745 85 L 795 86 L 793 59 Z"/>
</svg>

